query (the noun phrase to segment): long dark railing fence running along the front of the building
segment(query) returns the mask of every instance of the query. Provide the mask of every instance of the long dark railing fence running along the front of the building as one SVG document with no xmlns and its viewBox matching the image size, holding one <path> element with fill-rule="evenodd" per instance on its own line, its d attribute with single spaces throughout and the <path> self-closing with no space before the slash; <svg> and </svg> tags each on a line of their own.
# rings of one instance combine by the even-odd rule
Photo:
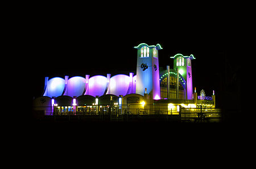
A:
<svg viewBox="0 0 256 169">
<path fill-rule="evenodd" d="M 36 118 L 43 116 L 64 117 L 68 119 L 100 119 L 127 121 L 132 118 L 140 119 L 164 119 L 170 121 L 187 122 L 220 122 L 221 110 L 216 108 L 170 108 L 167 104 L 129 104 L 129 105 L 82 105 L 82 106 L 56 106 L 56 107 L 34 107 Z M 40 116 L 37 116 L 40 115 Z"/>
</svg>

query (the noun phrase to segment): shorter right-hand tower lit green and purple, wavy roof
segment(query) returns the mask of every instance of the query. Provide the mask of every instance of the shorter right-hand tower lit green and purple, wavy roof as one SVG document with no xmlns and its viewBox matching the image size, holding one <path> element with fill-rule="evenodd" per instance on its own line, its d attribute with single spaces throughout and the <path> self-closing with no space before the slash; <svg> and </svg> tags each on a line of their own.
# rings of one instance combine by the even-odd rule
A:
<svg viewBox="0 0 256 169">
<path fill-rule="evenodd" d="M 183 56 L 183 54 L 175 54 L 174 57 L 170 57 L 174 59 L 174 70 L 179 68 L 179 74 L 182 75 L 184 79 L 186 79 L 186 88 L 185 88 L 185 99 L 192 100 L 193 99 L 193 86 L 192 86 L 192 66 L 191 60 L 196 59 L 193 54 L 190 56 Z"/>
</svg>

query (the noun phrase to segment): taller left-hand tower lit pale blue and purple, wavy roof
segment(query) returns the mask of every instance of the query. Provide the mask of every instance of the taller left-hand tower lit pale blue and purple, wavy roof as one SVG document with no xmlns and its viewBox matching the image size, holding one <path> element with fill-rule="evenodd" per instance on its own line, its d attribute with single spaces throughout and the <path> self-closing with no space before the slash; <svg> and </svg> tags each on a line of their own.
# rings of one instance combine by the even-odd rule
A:
<svg viewBox="0 0 256 169">
<path fill-rule="evenodd" d="M 158 50 L 163 49 L 159 44 L 148 46 L 139 44 L 137 47 L 137 80 L 136 93 L 143 95 L 145 88 L 152 99 L 160 99 Z"/>
</svg>

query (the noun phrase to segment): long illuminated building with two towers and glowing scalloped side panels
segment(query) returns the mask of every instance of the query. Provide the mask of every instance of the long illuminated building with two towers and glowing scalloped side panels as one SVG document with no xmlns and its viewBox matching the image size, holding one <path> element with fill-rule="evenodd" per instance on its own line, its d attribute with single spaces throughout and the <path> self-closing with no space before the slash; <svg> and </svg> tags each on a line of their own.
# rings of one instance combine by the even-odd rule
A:
<svg viewBox="0 0 256 169">
<path fill-rule="evenodd" d="M 100 113 L 108 111 L 129 113 L 179 113 L 180 108 L 215 107 L 215 94 L 197 96 L 193 92 L 192 60 L 195 56 L 175 54 L 174 69 L 159 69 L 160 44 L 139 44 L 137 74 L 86 75 L 45 78 L 44 92 L 34 99 L 37 110 L 46 115 L 53 112 Z M 41 108 L 42 109 L 42 108 Z M 157 110 L 156 110 L 157 109 Z"/>
</svg>

